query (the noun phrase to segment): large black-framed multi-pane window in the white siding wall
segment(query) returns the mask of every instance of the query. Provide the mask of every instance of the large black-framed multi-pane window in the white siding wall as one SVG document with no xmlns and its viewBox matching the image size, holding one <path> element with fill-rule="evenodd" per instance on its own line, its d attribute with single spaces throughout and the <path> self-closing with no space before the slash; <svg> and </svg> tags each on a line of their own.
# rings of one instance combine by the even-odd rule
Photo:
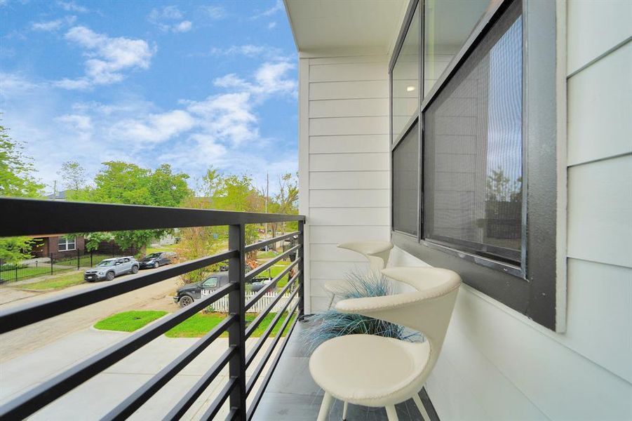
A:
<svg viewBox="0 0 632 421">
<path fill-rule="evenodd" d="M 420 3 L 411 0 L 389 66 L 391 240 L 563 328 L 555 2 Z"/>
</svg>

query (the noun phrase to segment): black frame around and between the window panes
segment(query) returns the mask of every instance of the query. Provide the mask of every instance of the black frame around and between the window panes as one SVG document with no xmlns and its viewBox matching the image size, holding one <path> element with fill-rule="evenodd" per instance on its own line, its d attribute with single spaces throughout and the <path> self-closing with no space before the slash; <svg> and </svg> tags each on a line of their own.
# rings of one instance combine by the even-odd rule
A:
<svg viewBox="0 0 632 421">
<path fill-rule="evenodd" d="M 461 50 L 450 62 L 427 95 L 424 93 L 424 0 L 410 0 L 393 55 L 389 62 L 391 86 L 391 204 L 393 150 L 404 135 L 394 139 L 392 126 L 392 70 L 408 32 L 415 9 L 420 12 L 419 107 L 403 133 L 419 121 L 418 235 L 393 229 L 391 241 L 399 248 L 437 267 L 455 270 L 469 286 L 525 314 L 551 330 L 563 330 L 564 308 L 556 309 L 557 298 L 557 78 L 556 4 L 522 0 L 523 17 L 523 222 L 520 266 L 492 260 L 466 250 L 452 248 L 424 237 L 424 111 L 468 60 L 492 27 L 514 1 L 490 6 L 478 21 Z M 528 157 L 528 159 L 527 159 Z M 528 227 L 528 229 L 527 229 Z M 560 300 L 563 302 L 563 300 Z"/>
</svg>

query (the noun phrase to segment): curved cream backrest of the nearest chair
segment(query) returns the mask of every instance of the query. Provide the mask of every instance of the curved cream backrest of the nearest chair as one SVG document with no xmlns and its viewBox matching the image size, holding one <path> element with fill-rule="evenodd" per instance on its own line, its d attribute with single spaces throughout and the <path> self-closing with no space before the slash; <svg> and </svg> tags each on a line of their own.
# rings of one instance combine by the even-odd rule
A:
<svg viewBox="0 0 632 421">
<path fill-rule="evenodd" d="M 408 283 L 415 291 L 342 300 L 337 302 L 336 309 L 390 321 L 424 333 L 436 361 L 448 331 L 461 277 L 438 267 L 389 267 L 383 269 L 382 274 Z"/>
</svg>

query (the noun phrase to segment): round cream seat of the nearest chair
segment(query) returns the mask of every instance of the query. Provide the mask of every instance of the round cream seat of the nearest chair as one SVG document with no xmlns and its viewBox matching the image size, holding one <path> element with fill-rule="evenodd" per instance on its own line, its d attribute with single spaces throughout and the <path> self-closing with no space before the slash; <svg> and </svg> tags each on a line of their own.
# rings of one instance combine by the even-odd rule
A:
<svg viewBox="0 0 632 421">
<path fill-rule="evenodd" d="M 314 381 L 337 399 L 385 406 L 419 392 L 429 360 L 428 342 L 346 335 L 324 342 L 309 359 Z"/>
</svg>

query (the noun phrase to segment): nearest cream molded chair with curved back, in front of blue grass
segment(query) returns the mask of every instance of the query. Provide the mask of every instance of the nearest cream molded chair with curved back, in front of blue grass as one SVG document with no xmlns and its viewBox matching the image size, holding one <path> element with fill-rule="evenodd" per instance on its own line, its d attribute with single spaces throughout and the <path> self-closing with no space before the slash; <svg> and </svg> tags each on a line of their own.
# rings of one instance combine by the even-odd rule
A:
<svg viewBox="0 0 632 421">
<path fill-rule="evenodd" d="M 461 278 L 437 267 L 391 267 L 382 274 L 408 283 L 415 291 L 342 300 L 336 304 L 337 311 L 418 330 L 426 342 L 377 335 L 347 335 L 324 342 L 309 359 L 311 377 L 325 390 L 318 421 L 328 419 L 333 398 L 344 401 L 343 420 L 348 403 L 354 403 L 384 406 L 389 421 L 394 421 L 396 403 L 412 398 L 429 421 L 419 391 L 441 352 Z"/>
</svg>

